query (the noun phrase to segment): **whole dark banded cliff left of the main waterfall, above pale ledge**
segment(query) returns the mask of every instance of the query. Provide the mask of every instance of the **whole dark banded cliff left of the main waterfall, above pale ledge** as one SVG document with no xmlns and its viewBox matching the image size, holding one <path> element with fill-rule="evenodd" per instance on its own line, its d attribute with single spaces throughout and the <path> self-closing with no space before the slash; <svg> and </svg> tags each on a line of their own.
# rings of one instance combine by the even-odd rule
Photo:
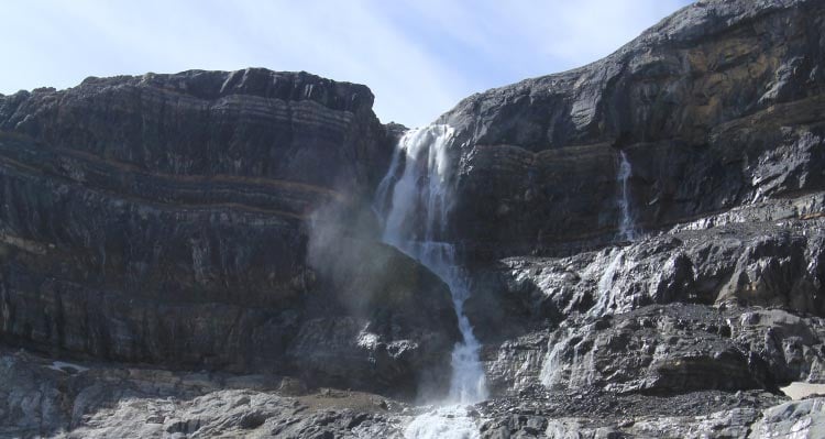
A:
<svg viewBox="0 0 825 439">
<path fill-rule="evenodd" d="M 364 86 L 265 69 L 1 97 L 3 339 L 415 394 L 419 374 L 449 366 L 458 331 L 426 268 L 377 237 L 341 244 L 366 228 L 349 212 L 395 142 L 372 101 Z M 342 230 L 334 259 L 308 259 L 329 232 L 315 212 Z M 353 306 L 344 286 L 364 278 L 374 300 Z"/>
</svg>

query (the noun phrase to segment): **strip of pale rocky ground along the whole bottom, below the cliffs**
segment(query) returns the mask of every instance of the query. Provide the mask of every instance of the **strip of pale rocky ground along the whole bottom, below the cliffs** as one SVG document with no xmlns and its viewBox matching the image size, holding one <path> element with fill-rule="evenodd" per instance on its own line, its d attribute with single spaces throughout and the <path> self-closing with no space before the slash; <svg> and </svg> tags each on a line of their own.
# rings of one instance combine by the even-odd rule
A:
<svg viewBox="0 0 825 439">
<path fill-rule="evenodd" d="M 307 389 L 267 375 L 174 373 L 68 363 L 6 351 L 2 437 L 407 437 L 420 419 L 435 437 L 821 437 L 825 397 L 765 391 L 670 396 L 601 387 L 525 388 L 473 407 L 414 406 L 354 391 Z M 461 437 L 461 436 L 458 436 Z"/>
</svg>

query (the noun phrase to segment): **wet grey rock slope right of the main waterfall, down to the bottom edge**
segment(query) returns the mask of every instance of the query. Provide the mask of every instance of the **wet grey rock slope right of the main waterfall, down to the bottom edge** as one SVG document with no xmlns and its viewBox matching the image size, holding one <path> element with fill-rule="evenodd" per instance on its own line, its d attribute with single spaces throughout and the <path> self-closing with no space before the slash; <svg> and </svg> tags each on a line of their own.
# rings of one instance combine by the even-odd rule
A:
<svg viewBox="0 0 825 439">
<path fill-rule="evenodd" d="M 499 396 L 482 435 L 817 437 L 820 399 L 779 387 L 823 382 L 821 197 L 479 267 L 466 311 Z"/>
</svg>

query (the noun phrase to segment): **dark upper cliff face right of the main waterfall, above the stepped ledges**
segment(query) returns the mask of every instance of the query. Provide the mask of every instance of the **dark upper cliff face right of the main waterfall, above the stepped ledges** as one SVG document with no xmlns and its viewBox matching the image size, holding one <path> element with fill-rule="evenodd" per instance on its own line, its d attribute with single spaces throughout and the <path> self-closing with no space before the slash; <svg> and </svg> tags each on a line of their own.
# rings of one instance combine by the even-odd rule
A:
<svg viewBox="0 0 825 439">
<path fill-rule="evenodd" d="M 569 254 L 616 235 L 623 150 L 641 229 L 821 187 L 820 1 L 696 2 L 613 55 L 473 95 L 439 119 L 472 253 Z"/>
</svg>

